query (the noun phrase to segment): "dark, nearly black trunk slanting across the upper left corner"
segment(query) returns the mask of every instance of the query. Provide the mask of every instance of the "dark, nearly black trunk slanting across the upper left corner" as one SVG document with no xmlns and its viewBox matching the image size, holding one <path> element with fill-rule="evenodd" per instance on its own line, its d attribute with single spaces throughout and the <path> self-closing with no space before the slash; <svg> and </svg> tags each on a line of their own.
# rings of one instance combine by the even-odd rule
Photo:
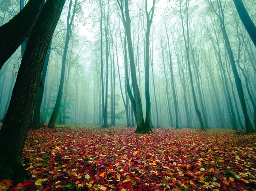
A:
<svg viewBox="0 0 256 191">
<path fill-rule="evenodd" d="M 29 0 L 8 23 L 0 26 L 0 69 L 32 32 L 44 0 Z"/>
</svg>

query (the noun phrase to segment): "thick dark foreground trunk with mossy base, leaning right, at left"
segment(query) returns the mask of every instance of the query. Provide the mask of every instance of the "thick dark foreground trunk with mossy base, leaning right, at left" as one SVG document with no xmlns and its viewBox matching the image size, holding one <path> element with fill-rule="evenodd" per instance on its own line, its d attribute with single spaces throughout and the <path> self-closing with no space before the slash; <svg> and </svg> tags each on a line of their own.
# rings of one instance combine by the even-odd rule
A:
<svg viewBox="0 0 256 191">
<path fill-rule="evenodd" d="M 65 0 L 47 0 L 26 46 L 6 119 L 0 131 L 0 180 L 29 178 L 21 155 L 52 34 Z M 21 22 L 22 23 L 22 22 Z"/>
</svg>

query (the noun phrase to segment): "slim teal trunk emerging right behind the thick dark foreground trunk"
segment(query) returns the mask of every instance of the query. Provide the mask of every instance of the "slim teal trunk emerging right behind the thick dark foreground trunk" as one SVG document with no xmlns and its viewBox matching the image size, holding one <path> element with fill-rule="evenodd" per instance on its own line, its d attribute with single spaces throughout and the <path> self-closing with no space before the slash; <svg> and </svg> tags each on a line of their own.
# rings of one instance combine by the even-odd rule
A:
<svg viewBox="0 0 256 191">
<path fill-rule="evenodd" d="M 51 47 L 52 43 L 50 43 L 47 55 L 44 60 L 44 67 L 41 75 L 41 81 L 42 81 L 42 86 L 38 89 L 38 93 L 36 95 L 35 99 L 35 108 L 34 108 L 34 116 L 33 116 L 33 126 L 32 128 L 40 128 L 40 110 L 41 110 L 41 104 L 44 96 L 44 84 L 45 84 L 45 78 L 46 78 L 46 73 L 47 73 L 47 67 L 49 63 L 49 58 L 50 58 L 50 53 L 51 53 Z"/>
</svg>

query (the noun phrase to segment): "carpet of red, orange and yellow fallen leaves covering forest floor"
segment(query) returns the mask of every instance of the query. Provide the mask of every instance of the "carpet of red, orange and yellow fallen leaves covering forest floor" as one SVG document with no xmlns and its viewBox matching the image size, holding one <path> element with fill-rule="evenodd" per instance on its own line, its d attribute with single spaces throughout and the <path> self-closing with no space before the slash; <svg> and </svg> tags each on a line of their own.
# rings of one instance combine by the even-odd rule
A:
<svg viewBox="0 0 256 191">
<path fill-rule="evenodd" d="M 28 191 L 250 191 L 256 189 L 256 135 L 232 130 L 41 128 L 28 133 Z M 25 189 L 26 188 L 26 189 Z"/>
</svg>

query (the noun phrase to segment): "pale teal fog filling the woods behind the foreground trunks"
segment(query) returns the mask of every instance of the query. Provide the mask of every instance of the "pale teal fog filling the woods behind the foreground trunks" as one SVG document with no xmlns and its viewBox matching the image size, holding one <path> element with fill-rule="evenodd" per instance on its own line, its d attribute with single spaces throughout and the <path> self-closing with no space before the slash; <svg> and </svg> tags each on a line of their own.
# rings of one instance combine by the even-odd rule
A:
<svg viewBox="0 0 256 191">
<path fill-rule="evenodd" d="M 154 9 L 151 9 L 151 1 L 147 9 L 149 16 L 152 15 L 152 23 L 148 22 L 151 24 L 149 55 L 146 52 L 149 24 L 145 1 L 128 3 L 135 80 L 144 119 L 147 113 L 145 68 L 149 59 L 150 116 L 154 126 L 177 127 L 178 124 L 178 127 L 198 128 L 201 126 L 195 109 L 198 107 L 205 127 L 245 128 L 245 111 L 240 99 L 243 94 L 250 123 L 255 127 L 256 48 L 233 0 L 153 2 L 156 3 Z M 138 94 L 134 94 L 131 47 L 119 3 L 122 5 L 123 2 L 66 2 L 48 50 L 49 64 L 40 87 L 44 90 L 41 125 L 49 122 L 57 97 L 61 99 L 57 124 L 101 126 L 106 121 L 104 116 L 107 116 L 108 125 L 136 125 L 127 86 L 136 104 Z M 244 6 L 256 23 L 254 0 L 244 0 Z M 7 23 L 19 11 L 20 1 L 0 0 L 0 24 Z M 7 112 L 19 72 L 21 49 L 18 48 L 0 70 L 1 118 Z M 44 66 L 46 63 L 47 58 Z M 239 80 L 235 79 L 234 67 L 242 89 L 237 85 Z M 63 88 L 60 88 L 61 77 Z M 105 112 L 102 112 L 102 106 Z"/>
</svg>

